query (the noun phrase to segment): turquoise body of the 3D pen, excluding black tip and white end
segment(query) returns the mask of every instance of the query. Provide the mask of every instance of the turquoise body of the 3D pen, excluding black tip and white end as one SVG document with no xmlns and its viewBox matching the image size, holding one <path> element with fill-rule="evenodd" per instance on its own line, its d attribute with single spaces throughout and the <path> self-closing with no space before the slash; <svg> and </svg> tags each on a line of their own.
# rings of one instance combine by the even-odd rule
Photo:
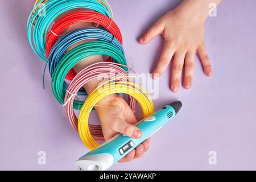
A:
<svg viewBox="0 0 256 182">
<path fill-rule="evenodd" d="M 174 118 L 175 115 L 176 112 L 174 107 L 172 107 L 171 105 L 166 105 L 162 107 L 162 109 L 159 109 L 155 113 L 149 115 L 147 118 L 142 119 L 136 124 L 136 126 L 142 131 L 141 138 L 134 139 L 119 134 L 108 140 L 107 142 L 101 144 L 101 146 L 88 152 L 79 160 L 83 160 L 85 158 L 94 159 L 97 156 L 100 157 L 100 155 L 105 155 L 106 158 L 112 158 L 110 160 L 111 163 L 117 163 L 118 160 L 122 159 L 131 150 L 141 144 L 152 134 L 156 133 L 156 131 L 158 131 L 163 125 L 171 121 L 171 119 Z"/>
</svg>

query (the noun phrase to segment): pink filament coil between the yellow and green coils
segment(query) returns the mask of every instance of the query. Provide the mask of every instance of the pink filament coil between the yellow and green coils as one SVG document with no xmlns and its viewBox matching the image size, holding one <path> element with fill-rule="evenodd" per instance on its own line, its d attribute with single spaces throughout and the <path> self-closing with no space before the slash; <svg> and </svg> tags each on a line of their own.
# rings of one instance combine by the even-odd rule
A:
<svg viewBox="0 0 256 182">
<path fill-rule="evenodd" d="M 127 67 L 126 65 L 111 63 L 111 62 L 99 62 L 89 65 L 84 68 L 81 72 L 79 72 L 75 78 L 73 78 L 71 84 L 68 87 L 68 90 L 65 94 L 64 103 L 66 115 L 71 123 L 72 127 L 78 131 L 78 119 L 73 110 L 73 101 L 75 100 L 76 93 L 79 89 L 84 86 L 88 81 L 94 78 L 115 78 L 119 76 L 128 76 L 128 73 L 123 70 L 120 66 Z M 129 68 L 129 67 L 127 67 Z M 130 69 L 130 68 L 129 68 Z M 133 71 L 133 69 L 130 69 Z M 134 71 L 133 71 L 134 72 Z M 135 73 L 135 72 L 134 72 Z M 129 77 L 120 78 L 120 80 L 129 81 Z M 135 105 L 137 101 L 131 97 L 127 96 L 127 103 L 131 107 L 131 109 L 135 110 Z M 104 136 L 102 134 L 101 125 L 91 125 L 89 124 L 90 133 L 95 140 L 104 140 Z"/>
</svg>

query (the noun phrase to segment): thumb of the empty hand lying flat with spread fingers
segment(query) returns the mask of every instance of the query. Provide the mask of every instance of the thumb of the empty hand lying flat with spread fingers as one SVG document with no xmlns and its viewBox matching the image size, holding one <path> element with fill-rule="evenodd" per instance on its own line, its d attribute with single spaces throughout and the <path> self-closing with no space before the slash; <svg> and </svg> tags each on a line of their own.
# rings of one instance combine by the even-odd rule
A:
<svg viewBox="0 0 256 182">
<path fill-rule="evenodd" d="M 147 44 L 149 43 L 152 39 L 154 39 L 157 35 L 162 33 L 162 26 L 160 23 L 156 22 L 153 24 L 152 27 L 150 27 L 144 34 L 142 35 L 141 38 L 139 38 L 138 42 L 140 44 Z"/>
</svg>

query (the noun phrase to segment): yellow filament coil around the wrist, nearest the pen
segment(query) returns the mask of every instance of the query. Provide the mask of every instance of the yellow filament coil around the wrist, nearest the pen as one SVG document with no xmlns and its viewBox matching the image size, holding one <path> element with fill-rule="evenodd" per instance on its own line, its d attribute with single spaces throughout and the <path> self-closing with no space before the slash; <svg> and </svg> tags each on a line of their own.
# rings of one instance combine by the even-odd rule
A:
<svg viewBox="0 0 256 182">
<path fill-rule="evenodd" d="M 143 118 L 146 118 L 148 115 L 154 113 L 154 105 L 151 100 L 150 94 L 148 94 L 147 90 L 133 82 L 116 81 L 118 78 L 123 77 L 114 78 L 98 86 L 98 88 L 96 88 L 88 96 L 84 105 L 82 106 L 82 109 L 79 114 L 78 130 L 82 142 L 85 144 L 86 147 L 89 148 L 89 150 L 93 150 L 94 148 L 100 146 L 100 144 L 98 144 L 90 134 L 89 115 L 92 108 L 102 98 L 115 93 L 129 94 L 131 97 L 134 97 L 135 100 L 138 101 L 139 105 L 141 105 L 143 111 Z"/>
</svg>

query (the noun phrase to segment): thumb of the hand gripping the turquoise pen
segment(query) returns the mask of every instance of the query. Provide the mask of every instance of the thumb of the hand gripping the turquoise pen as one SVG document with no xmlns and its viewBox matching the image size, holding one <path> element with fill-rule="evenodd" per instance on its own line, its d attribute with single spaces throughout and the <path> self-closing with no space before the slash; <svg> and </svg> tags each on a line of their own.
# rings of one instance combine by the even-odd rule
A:
<svg viewBox="0 0 256 182">
<path fill-rule="evenodd" d="M 112 125 L 112 129 L 114 131 L 117 131 L 118 133 L 126 135 L 127 137 L 131 137 L 131 138 L 142 137 L 142 131 L 138 127 L 127 123 L 125 120 L 115 122 L 115 124 Z"/>
</svg>

